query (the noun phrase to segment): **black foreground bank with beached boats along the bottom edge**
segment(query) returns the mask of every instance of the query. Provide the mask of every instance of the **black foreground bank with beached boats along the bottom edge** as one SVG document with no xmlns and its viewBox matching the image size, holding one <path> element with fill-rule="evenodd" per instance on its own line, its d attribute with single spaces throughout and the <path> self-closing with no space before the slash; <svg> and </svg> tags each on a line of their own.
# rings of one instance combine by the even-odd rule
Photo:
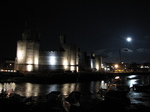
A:
<svg viewBox="0 0 150 112">
<path fill-rule="evenodd" d="M 69 102 L 69 104 L 64 101 Z M 70 107 L 69 112 L 149 112 L 150 110 L 149 106 L 129 101 L 130 99 L 123 101 L 120 99 L 118 100 L 117 98 L 107 98 L 102 100 L 99 94 L 82 95 L 79 93 L 79 95 L 76 95 L 75 97 L 71 97 L 71 95 L 63 96 L 57 91 L 34 97 L 24 97 L 9 92 L 2 92 L 0 94 L 0 107 L 1 110 L 4 111 L 67 112 L 65 107 Z M 77 102 L 79 102 L 80 105 L 74 105 L 75 103 L 77 104 Z"/>
</svg>

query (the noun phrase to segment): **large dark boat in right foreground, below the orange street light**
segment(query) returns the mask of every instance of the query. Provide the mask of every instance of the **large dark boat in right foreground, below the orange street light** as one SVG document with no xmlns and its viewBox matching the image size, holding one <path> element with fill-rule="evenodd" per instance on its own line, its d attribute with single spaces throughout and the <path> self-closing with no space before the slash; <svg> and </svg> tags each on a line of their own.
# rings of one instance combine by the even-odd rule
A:
<svg viewBox="0 0 150 112">
<path fill-rule="evenodd" d="M 115 77 L 114 82 L 107 84 L 107 87 L 105 86 L 105 88 L 101 87 L 98 94 L 103 101 L 129 106 L 131 103 L 128 98 L 129 91 L 129 86 L 122 84 L 119 77 Z"/>
</svg>

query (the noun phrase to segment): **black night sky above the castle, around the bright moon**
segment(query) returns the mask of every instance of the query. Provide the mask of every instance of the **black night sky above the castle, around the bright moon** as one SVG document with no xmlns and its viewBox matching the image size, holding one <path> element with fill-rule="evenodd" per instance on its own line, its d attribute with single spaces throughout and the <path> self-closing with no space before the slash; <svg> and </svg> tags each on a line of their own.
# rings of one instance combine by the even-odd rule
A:
<svg viewBox="0 0 150 112">
<path fill-rule="evenodd" d="M 41 34 L 41 50 L 58 50 L 59 35 L 104 62 L 150 62 L 150 3 L 147 0 L 4 0 L 0 3 L 0 57 L 15 58 L 27 26 Z M 132 42 L 127 42 L 130 36 Z"/>
</svg>

